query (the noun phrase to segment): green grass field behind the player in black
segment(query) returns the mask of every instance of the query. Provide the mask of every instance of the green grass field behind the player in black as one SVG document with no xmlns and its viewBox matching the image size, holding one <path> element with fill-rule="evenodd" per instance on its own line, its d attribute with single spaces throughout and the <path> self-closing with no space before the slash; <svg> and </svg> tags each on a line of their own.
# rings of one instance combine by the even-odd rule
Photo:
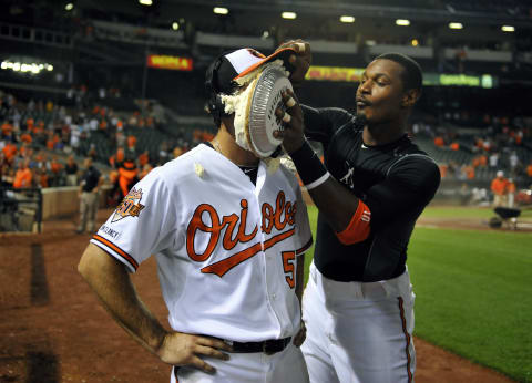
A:
<svg viewBox="0 0 532 383">
<path fill-rule="evenodd" d="M 308 211 L 314 230 L 317 210 Z M 493 213 L 430 207 L 423 215 L 487 219 Z M 306 261 L 307 278 L 310 257 Z M 532 382 L 531 234 L 419 227 L 407 265 L 417 296 L 416 335 Z"/>
</svg>

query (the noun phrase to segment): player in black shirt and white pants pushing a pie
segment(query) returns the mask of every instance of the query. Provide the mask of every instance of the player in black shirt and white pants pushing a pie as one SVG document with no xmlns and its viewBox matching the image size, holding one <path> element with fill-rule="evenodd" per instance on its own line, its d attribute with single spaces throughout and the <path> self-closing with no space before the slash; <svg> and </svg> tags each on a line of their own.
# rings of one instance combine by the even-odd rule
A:
<svg viewBox="0 0 532 383">
<path fill-rule="evenodd" d="M 298 46 L 308 68 L 310 48 Z M 303 351 L 311 382 L 413 380 L 407 248 L 440 184 L 437 164 L 406 133 L 421 84 L 412 59 L 382 54 L 362 74 L 357 115 L 301 107 L 290 92 L 287 111 L 277 111 L 286 128 L 276 136 L 319 209 L 304 294 Z M 306 138 L 324 145 L 326 167 Z"/>
</svg>

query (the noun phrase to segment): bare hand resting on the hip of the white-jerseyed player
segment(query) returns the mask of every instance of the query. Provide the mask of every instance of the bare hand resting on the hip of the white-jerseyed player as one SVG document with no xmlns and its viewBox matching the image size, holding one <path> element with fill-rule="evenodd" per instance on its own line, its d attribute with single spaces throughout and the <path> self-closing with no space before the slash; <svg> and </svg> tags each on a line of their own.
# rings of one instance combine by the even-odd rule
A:
<svg viewBox="0 0 532 383">
<path fill-rule="evenodd" d="M 173 365 L 187 365 L 207 373 L 216 372 L 201 356 L 211 356 L 226 361 L 229 355 L 222 352 L 231 352 L 231 345 L 221 339 L 203 335 L 185 334 L 182 332 L 168 332 L 157 351 L 157 355 L 165 363 Z"/>
</svg>

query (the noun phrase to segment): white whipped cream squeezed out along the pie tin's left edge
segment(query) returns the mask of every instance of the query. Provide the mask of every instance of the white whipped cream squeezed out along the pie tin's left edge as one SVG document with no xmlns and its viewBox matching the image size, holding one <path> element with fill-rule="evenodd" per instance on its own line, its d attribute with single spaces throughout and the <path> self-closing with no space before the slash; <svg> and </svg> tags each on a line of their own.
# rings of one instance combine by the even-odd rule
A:
<svg viewBox="0 0 532 383">
<path fill-rule="evenodd" d="M 283 68 L 283 60 L 275 60 L 267 64 L 260 65 L 248 74 L 236 79 L 235 82 L 239 85 L 239 87 L 235 91 L 235 93 L 229 95 L 221 95 L 222 102 L 224 103 L 225 113 L 235 114 L 235 121 L 233 125 L 235 126 L 236 144 L 246 151 L 252 151 L 252 144 L 248 142 L 246 135 L 246 115 L 248 100 L 253 96 L 253 90 L 255 89 L 255 86 L 248 85 L 253 81 L 257 81 L 260 76 L 260 73 L 263 73 L 266 68 L 270 66 Z M 286 70 L 285 73 L 287 73 L 287 76 L 289 75 L 289 72 Z"/>
</svg>

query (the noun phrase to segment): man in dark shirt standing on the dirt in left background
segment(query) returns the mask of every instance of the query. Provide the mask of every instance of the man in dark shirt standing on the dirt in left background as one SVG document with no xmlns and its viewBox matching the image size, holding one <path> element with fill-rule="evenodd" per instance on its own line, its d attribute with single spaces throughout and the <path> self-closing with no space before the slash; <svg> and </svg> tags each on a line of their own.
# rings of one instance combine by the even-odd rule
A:
<svg viewBox="0 0 532 383">
<path fill-rule="evenodd" d="M 84 162 L 85 172 L 81 176 L 80 190 L 80 225 L 78 226 L 78 234 L 89 229 L 89 232 L 94 231 L 94 224 L 98 211 L 98 192 L 103 183 L 103 177 L 93 165 L 92 158 L 86 157 Z"/>
</svg>

